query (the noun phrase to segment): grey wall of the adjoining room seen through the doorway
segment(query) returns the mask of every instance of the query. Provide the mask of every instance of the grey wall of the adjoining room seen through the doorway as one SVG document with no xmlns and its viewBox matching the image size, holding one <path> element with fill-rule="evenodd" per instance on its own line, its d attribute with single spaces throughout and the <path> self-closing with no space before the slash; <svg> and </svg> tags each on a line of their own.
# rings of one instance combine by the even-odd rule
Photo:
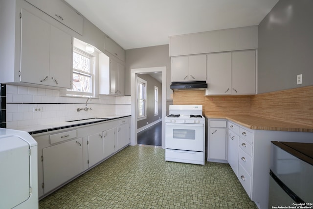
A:
<svg viewBox="0 0 313 209">
<path fill-rule="evenodd" d="M 140 74 L 138 77 L 147 81 L 147 119 L 139 120 L 137 122 L 137 128 L 141 128 L 162 118 L 162 84 L 149 74 Z M 155 116 L 155 86 L 158 88 L 157 116 Z"/>
</svg>

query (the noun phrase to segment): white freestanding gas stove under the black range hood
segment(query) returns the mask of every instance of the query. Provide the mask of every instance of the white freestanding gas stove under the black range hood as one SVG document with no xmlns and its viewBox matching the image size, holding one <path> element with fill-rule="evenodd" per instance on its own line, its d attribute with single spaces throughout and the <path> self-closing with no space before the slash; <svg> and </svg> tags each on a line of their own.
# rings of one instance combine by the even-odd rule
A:
<svg viewBox="0 0 313 209">
<path fill-rule="evenodd" d="M 202 105 L 170 105 L 165 117 L 165 161 L 204 165 Z"/>
</svg>

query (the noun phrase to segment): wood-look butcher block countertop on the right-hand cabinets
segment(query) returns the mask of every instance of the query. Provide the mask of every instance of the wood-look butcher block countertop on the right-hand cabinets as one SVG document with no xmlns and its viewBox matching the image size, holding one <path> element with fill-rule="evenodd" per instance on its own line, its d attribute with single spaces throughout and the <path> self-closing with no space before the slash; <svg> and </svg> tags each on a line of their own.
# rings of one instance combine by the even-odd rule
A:
<svg viewBox="0 0 313 209">
<path fill-rule="evenodd" d="M 313 132 L 313 126 L 290 123 L 250 115 L 205 115 L 207 118 L 227 119 L 249 129 L 266 131 Z"/>
</svg>

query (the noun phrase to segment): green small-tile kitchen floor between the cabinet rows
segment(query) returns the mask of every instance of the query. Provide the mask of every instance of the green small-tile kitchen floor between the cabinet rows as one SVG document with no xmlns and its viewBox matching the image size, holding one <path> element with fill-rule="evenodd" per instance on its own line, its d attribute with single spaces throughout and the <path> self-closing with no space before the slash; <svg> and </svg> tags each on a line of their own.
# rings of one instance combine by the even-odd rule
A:
<svg viewBox="0 0 313 209">
<path fill-rule="evenodd" d="M 128 146 L 39 201 L 40 209 L 255 209 L 229 164 L 164 161 Z"/>
</svg>

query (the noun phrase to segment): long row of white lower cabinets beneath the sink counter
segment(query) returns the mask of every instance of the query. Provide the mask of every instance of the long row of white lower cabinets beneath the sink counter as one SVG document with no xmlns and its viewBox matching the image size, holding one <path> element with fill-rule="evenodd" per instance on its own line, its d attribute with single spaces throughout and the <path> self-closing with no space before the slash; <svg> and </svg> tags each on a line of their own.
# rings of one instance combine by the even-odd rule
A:
<svg viewBox="0 0 313 209">
<path fill-rule="evenodd" d="M 129 124 L 124 117 L 32 135 L 38 142 L 39 198 L 126 147 Z"/>
</svg>

